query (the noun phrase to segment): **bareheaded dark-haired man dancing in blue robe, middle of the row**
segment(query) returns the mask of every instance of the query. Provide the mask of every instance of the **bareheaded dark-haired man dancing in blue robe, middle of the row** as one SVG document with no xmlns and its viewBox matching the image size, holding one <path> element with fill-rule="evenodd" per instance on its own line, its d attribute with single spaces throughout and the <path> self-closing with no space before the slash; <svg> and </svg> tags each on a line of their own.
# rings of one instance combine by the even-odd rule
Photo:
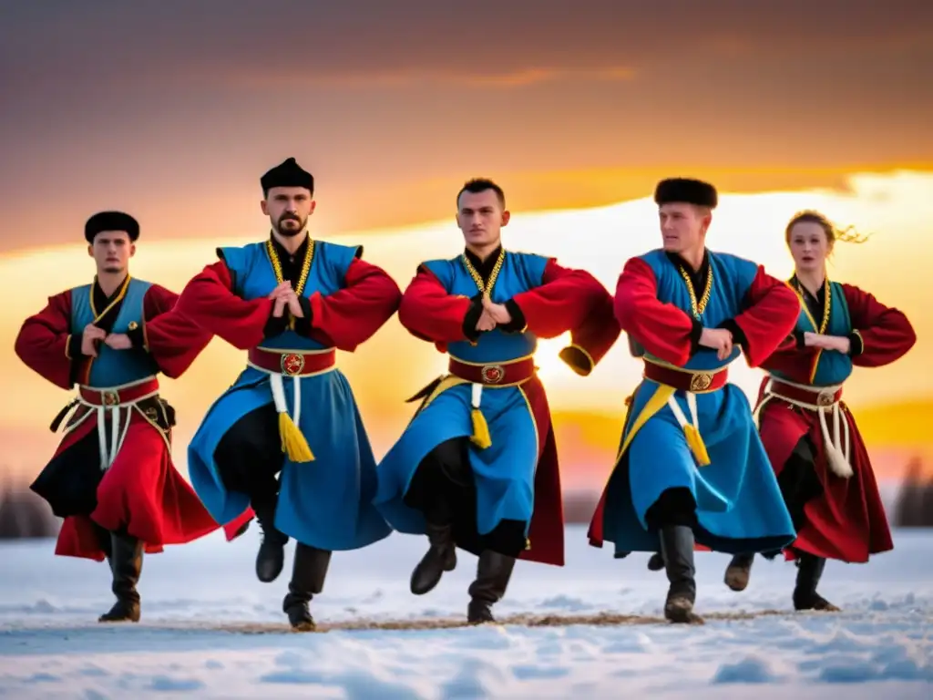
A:
<svg viewBox="0 0 933 700">
<path fill-rule="evenodd" d="M 375 503 L 405 533 L 426 535 L 411 574 L 424 595 L 456 566 L 455 548 L 477 554 L 469 623 L 493 622 L 516 557 L 564 565 L 564 514 L 557 449 L 543 385 L 538 338 L 570 331 L 561 351 L 589 374 L 619 337 L 612 297 L 590 273 L 554 259 L 507 251 L 502 189 L 488 179 L 457 193 L 466 249 L 423 262 L 405 290 L 399 320 L 450 356 L 449 373 L 423 399 L 379 465 Z"/>
</svg>

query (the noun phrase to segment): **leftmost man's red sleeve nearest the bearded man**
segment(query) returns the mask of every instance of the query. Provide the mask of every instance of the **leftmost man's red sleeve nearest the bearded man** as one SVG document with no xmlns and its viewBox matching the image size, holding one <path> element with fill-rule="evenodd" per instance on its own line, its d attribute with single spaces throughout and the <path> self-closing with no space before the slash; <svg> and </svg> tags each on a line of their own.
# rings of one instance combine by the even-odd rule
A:
<svg viewBox="0 0 933 700">
<path fill-rule="evenodd" d="M 167 377 L 180 377 L 211 342 L 212 334 L 188 316 L 176 313 L 179 297 L 173 291 L 152 285 L 143 300 L 143 323 L 133 344 L 143 348 Z"/>
</svg>

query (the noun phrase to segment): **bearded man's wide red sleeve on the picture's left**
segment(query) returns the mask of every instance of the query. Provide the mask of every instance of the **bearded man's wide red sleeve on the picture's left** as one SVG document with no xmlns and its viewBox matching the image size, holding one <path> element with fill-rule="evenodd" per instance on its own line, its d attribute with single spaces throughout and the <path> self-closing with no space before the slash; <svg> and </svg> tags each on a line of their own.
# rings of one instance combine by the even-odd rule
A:
<svg viewBox="0 0 933 700">
<path fill-rule="evenodd" d="M 182 290 L 175 310 L 195 325 L 240 350 L 256 347 L 266 336 L 272 300 L 246 301 L 233 292 L 223 260 L 207 265 Z"/>
</svg>

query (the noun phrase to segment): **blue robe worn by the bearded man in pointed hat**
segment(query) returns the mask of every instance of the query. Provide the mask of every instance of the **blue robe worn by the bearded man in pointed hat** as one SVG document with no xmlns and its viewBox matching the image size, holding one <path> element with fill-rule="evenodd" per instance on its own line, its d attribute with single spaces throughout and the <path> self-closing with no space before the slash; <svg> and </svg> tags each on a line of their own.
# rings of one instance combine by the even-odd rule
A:
<svg viewBox="0 0 933 700">
<path fill-rule="evenodd" d="M 344 276 L 358 248 L 315 241 L 313 260 L 302 294 L 327 296 L 344 286 Z M 222 248 L 244 300 L 264 298 L 277 281 L 265 244 Z M 293 330 L 268 338 L 263 348 L 313 352 L 325 348 Z M 286 405 L 294 403 L 294 379 L 285 377 Z M 376 462 L 353 390 L 333 368 L 301 377 L 299 428 L 314 459 L 295 463 L 287 456 L 280 476 L 275 527 L 304 544 L 341 551 L 366 547 L 388 537 L 391 528 L 372 504 Z M 226 525 L 249 506 L 246 494 L 230 492 L 214 459 L 217 445 L 246 413 L 272 403 L 269 375 L 251 366 L 237 377 L 204 416 L 188 445 L 188 472 L 198 496 L 218 523 Z"/>
</svg>

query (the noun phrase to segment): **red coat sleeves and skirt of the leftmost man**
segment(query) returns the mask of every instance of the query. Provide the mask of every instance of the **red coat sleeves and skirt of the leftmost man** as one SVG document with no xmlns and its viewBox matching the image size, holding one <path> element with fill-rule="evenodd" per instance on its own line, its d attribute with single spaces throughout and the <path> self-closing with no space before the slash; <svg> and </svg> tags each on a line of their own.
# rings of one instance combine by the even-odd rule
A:
<svg viewBox="0 0 933 700">
<path fill-rule="evenodd" d="M 174 292 L 152 285 L 143 300 L 146 350 L 161 373 L 175 378 L 188 370 L 207 343 L 204 333 L 177 314 L 171 314 Z M 71 290 L 49 297 L 38 314 L 25 320 L 15 349 L 21 360 L 40 376 L 63 389 L 71 389 L 90 372 L 93 357 L 69 357 L 71 338 Z M 97 431 L 96 412 L 65 433 L 53 457 L 63 455 L 82 438 Z M 55 553 L 97 561 L 104 550 L 93 523 L 107 530 L 126 527 L 146 544 L 146 552 L 161 552 L 163 545 L 200 538 L 218 525 L 203 508 L 188 482 L 172 463 L 171 430 L 163 432 L 139 411 L 129 412 L 126 437 L 113 464 L 97 486 L 96 508 L 88 515 L 64 518 Z"/>
</svg>

